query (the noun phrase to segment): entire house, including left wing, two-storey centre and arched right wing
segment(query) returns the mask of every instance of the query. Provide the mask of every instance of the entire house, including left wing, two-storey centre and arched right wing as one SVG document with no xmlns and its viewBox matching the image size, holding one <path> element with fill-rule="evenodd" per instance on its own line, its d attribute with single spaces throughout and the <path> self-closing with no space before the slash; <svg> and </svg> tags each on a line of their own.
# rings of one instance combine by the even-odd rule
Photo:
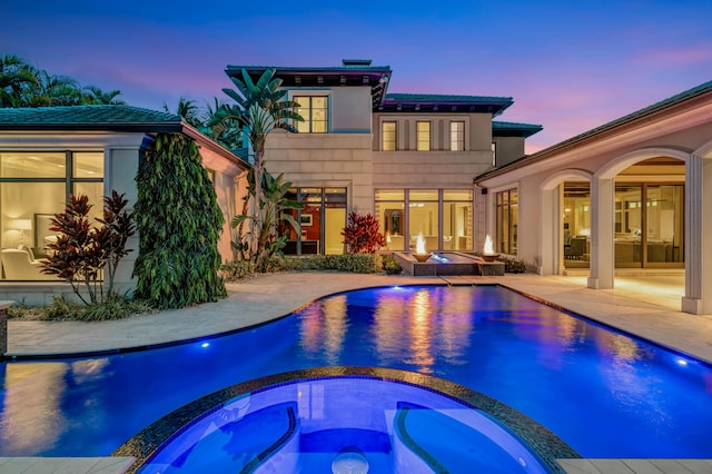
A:
<svg viewBox="0 0 712 474">
<path fill-rule="evenodd" d="M 712 217 L 703 211 L 712 206 L 712 82 L 525 156 L 542 127 L 500 121 L 510 97 L 388 93 L 390 68 L 359 59 L 226 73 L 257 80 L 267 69 L 305 119 L 298 134 L 276 130 L 266 145 L 266 169 L 284 174 L 304 204 L 287 253 L 342 254 L 347 214 L 373 214 L 388 250 L 414 249 L 418 235 L 432 251 L 481 250 L 492 236 L 501 254 L 543 275 L 583 273 L 591 288 L 612 288 L 621 271 L 684 274 L 682 310 L 712 314 Z M 134 199 L 138 160 L 161 131 L 199 144 L 229 221 L 247 165 L 179 117 L 121 106 L 0 109 L 0 246 L 40 254 L 47 216 L 69 192 Z M 58 285 L 20 280 L 34 278 L 6 270 L 0 298 Z"/>
</svg>

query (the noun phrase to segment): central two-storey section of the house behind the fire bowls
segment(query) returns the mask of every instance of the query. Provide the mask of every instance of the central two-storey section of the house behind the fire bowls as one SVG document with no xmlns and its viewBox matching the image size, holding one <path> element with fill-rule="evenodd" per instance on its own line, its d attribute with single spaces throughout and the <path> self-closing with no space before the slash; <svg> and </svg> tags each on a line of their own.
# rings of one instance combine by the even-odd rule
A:
<svg viewBox="0 0 712 474">
<path fill-rule="evenodd" d="M 472 179 L 524 156 L 541 126 L 494 121 L 510 97 L 387 93 L 392 70 L 370 60 L 339 67 L 228 66 L 257 80 L 266 69 L 299 103 L 298 134 L 273 132 L 265 166 L 294 184 L 304 204 L 287 251 L 342 254 L 348 211 L 373 214 L 387 249 L 474 250 L 476 196 Z"/>
</svg>

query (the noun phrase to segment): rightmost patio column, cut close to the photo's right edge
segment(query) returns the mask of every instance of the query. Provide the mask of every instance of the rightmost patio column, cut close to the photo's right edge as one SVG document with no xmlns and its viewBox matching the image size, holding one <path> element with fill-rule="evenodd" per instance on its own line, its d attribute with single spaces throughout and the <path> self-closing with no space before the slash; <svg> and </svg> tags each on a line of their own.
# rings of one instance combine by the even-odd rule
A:
<svg viewBox="0 0 712 474">
<path fill-rule="evenodd" d="M 705 255 L 703 246 L 704 236 L 712 235 L 712 219 L 705 220 L 702 211 L 704 185 L 712 189 L 712 160 L 691 155 L 685 165 L 685 296 L 682 310 L 712 314 L 712 253 Z"/>
</svg>

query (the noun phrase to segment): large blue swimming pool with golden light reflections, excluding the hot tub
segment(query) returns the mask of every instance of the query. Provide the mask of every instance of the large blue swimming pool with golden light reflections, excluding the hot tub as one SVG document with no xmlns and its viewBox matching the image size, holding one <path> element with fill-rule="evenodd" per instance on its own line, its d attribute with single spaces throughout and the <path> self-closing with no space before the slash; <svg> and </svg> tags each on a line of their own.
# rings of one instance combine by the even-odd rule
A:
<svg viewBox="0 0 712 474">
<path fill-rule="evenodd" d="M 108 455 L 219 388 L 309 367 L 446 378 L 584 457 L 712 457 L 712 371 L 497 286 L 333 295 L 264 326 L 160 349 L 0 366 L 0 455 Z"/>
</svg>

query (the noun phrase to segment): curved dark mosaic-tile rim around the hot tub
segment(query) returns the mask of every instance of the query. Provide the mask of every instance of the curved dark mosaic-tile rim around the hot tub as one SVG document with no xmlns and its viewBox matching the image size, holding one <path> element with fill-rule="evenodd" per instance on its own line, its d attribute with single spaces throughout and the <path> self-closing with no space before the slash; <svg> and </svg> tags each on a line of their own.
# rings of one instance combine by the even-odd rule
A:
<svg viewBox="0 0 712 474">
<path fill-rule="evenodd" d="M 563 472 L 556 460 L 581 458 L 581 455 L 552 431 L 511 406 L 485 394 L 445 378 L 417 372 L 364 366 L 323 366 L 268 375 L 221 388 L 190 402 L 151 423 L 119 446 L 111 456 L 134 457 L 126 471 L 136 473 L 158 450 L 182 433 L 192 421 L 220 409 L 233 398 L 259 393 L 281 385 L 323 378 L 369 378 L 415 386 L 476 408 L 496 419 L 518 436 L 530 451 L 553 473 Z"/>
</svg>

